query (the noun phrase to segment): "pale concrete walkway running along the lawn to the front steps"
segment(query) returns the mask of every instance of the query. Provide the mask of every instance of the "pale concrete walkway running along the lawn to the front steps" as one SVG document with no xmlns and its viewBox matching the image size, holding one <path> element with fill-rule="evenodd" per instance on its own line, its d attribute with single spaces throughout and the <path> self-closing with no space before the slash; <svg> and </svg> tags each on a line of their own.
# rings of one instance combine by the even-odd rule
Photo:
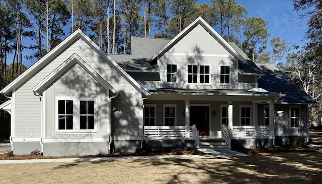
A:
<svg viewBox="0 0 322 184">
<path fill-rule="evenodd" d="M 148 156 L 120 156 L 120 157 L 94 157 L 94 158 L 54 158 L 54 159 L 29 159 L 29 160 L 0 160 L 0 164 L 12 163 L 43 163 L 43 162 L 93 162 L 107 160 L 132 160 L 132 159 L 157 159 L 157 158 L 214 158 L 249 156 L 229 149 L 199 149 L 205 155 L 148 155 Z"/>
</svg>

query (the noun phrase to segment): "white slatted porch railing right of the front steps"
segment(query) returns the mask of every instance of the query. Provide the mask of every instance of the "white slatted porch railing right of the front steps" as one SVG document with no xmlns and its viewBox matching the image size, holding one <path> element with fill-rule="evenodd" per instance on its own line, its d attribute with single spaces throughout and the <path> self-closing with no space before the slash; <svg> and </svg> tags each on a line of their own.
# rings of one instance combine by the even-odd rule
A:
<svg viewBox="0 0 322 184">
<path fill-rule="evenodd" d="M 232 139 L 272 139 L 270 126 L 232 126 Z"/>
</svg>

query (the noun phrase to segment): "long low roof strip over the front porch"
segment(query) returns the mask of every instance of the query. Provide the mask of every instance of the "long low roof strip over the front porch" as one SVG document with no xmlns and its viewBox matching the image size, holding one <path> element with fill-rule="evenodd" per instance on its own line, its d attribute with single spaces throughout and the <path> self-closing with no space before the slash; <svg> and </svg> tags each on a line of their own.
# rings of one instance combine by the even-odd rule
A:
<svg viewBox="0 0 322 184">
<path fill-rule="evenodd" d="M 149 90 L 150 94 L 180 94 L 180 95 L 216 95 L 216 96 L 284 96 L 276 92 L 253 92 L 235 89 L 180 89 L 180 88 L 156 88 Z"/>
</svg>

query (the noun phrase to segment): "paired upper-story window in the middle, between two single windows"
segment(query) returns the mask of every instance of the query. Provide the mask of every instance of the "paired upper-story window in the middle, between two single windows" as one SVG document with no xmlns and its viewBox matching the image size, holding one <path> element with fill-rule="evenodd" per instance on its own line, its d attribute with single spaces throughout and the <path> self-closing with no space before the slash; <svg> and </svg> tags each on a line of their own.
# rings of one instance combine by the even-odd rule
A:
<svg viewBox="0 0 322 184">
<path fill-rule="evenodd" d="M 188 65 L 188 83 L 209 83 L 209 80 L 209 65 Z"/>
</svg>

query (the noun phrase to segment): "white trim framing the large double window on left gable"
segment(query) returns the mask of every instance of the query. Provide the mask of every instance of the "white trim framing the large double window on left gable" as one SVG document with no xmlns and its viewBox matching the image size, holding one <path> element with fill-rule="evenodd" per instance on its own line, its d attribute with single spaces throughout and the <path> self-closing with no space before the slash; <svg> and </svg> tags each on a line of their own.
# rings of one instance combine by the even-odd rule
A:
<svg viewBox="0 0 322 184">
<path fill-rule="evenodd" d="M 72 100 L 73 102 L 73 125 L 72 130 L 58 130 L 58 100 Z M 79 122 L 79 101 L 94 101 L 94 129 L 80 129 Z M 55 133 L 56 134 L 75 134 L 75 133 L 97 133 L 97 98 L 96 97 L 56 97 L 55 98 Z"/>
</svg>

